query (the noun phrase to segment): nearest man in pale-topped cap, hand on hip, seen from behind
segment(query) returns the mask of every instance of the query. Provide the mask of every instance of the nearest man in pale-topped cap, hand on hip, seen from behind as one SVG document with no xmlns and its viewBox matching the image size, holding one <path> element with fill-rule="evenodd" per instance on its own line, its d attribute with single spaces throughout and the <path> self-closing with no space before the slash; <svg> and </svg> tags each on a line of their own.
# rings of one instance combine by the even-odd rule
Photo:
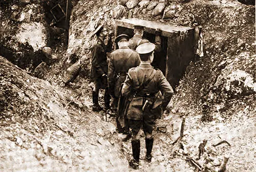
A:
<svg viewBox="0 0 256 172">
<path fill-rule="evenodd" d="M 155 119 L 161 116 L 174 93 L 163 73 L 154 69 L 151 62 L 154 59 L 155 45 L 148 42 L 137 47 L 141 63 L 136 68 L 131 68 L 122 87 L 122 95 L 127 97 L 130 104 L 126 110 L 129 126 L 132 130 L 133 160 L 130 166 L 137 169 L 140 157 L 139 131 L 145 133 L 147 162 L 152 159 L 154 138 L 152 135 Z M 162 96 L 164 95 L 164 96 Z"/>
</svg>

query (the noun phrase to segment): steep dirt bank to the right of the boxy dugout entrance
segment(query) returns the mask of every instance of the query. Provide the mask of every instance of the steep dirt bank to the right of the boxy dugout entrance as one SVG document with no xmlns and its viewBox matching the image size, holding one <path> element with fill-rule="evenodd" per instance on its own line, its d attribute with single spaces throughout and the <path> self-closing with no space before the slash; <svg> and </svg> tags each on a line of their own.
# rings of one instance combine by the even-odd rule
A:
<svg viewBox="0 0 256 172">
<path fill-rule="evenodd" d="M 236 100 L 251 104 L 255 94 L 254 7 L 187 4 L 185 10 L 194 13 L 203 27 L 205 56 L 190 63 L 173 100 L 186 104 L 186 111 L 202 108 L 209 116 L 221 109 L 223 115 L 229 114 Z M 250 82 L 249 86 L 240 80 Z"/>
</svg>

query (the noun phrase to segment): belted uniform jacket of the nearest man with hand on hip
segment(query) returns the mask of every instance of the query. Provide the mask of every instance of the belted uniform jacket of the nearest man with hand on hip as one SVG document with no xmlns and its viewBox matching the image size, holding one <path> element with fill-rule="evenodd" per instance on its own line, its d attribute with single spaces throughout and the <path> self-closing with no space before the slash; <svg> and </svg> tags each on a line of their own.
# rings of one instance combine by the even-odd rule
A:
<svg viewBox="0 0 256 172">
<path fill-rule="evenodd" d="M 151 74 L 155 70 L 156 74 L 153 79 L 151 79 L 150 82 L 148 82 L 148 84 L 146 84 L 144 88 L 135 95 L 134 93 L 136 93 L 136 90 L 141 87 L 140 85 L 142 85 L 143 82 L 146 82 L 148 78 L 150 78 Z M 165 109 L 170 98 L 172 98 L 174 91 L 163 73 L 158 69 L 154 69 L 150 63 L 145 62 L 142 62 L 137 68 L 130 69 L 122 87 L 122 95 L 130 99 L 130 104 L 126 110 L 127 118 L 141 120 L 143 116 L 142 107 L 146 97 L 144 95 L 151 95 L 152 97 L 155 97 L 159 91 L 164 95 L 162 107 Z M 155 114 L 155 116 L 158 115 L 159 114 Z M 152 117 L 152 114 L 149 114 L 148 116 Z"/>
</svg>

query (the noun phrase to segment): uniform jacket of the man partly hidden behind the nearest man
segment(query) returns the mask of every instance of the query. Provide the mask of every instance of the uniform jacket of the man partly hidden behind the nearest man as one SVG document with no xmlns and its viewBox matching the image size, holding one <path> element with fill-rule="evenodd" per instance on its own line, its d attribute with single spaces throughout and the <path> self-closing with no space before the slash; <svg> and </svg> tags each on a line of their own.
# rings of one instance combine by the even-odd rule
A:
<svg viewBox="0 0 256 172">
<path fill-rule="evenodd" d="M 124 82 L 126 73 L 139 64 L 139 54 L 129 47 L 122 47 L 110 54 L 108 85 L 111 96 L 119 97 L 121 83 Z"/>
</svg>

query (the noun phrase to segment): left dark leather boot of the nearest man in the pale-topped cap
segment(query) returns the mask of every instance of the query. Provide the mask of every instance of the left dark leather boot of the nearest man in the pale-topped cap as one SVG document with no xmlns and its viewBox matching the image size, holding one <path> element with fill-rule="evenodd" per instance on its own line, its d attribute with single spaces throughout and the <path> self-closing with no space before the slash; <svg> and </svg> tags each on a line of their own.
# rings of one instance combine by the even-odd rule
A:
<svg viewBox="0 0 256 172">
<path fill-rule="evenodd" d="M 132 140 L 133 160 L 130 161 L 129 165 L 134 168 L 139 168 L 140 160 L 140 140 Z"/>
</svg>

